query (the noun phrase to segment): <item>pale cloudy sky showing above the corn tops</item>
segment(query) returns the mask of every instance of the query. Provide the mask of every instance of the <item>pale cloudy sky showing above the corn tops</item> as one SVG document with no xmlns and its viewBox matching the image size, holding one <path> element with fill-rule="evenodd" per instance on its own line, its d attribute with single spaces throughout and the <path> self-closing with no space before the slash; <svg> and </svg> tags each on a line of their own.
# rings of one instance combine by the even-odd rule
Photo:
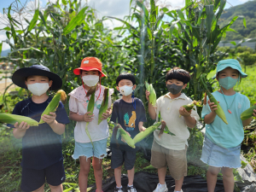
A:
<svg viewBox="0 0 256 192">
<path fill-rule="evenodd" d="M 8 8 L 10 3 L 15 0 L 0 0 L 0 19 L 3 15 L 3 8 Z M 28 2 L 30 8 L 36 4 L 40 4 L 40 8 L 44 8 L 47 2 L 55 2 L 55 0 L 20 0 L 20 3 Z M 130 1 L 131 0 L 82 0 L 97 10 L 96 15 L 98 18 L 102 16 L 113 16 L 123 19 L 125 15 L 129 15 Z M 246 3 L 249 0 L 228 0 L 225 9 L 229 9 L 231 6 L 236 6 L 238 4 Z M 61 2 L 61 0 L 60 0 Z M 160 5 L 167 4 L 172 9 L 183 8 L 185 0 L 160 0 Z M 82 3 L 83 4 L 83 3 Z M 29 16 L 28 16 L 29 18 Z M 106 26 L 113 28 L 113 26 L 119 26 L 120 23 L 117 20 L 108 20 L 105 23 Z M 0 29 L 5 27 L 0 24 Z M 0 31 L 0 42 L 6 39 L 5 33 Z M 3 50 L 9 49 L 9 45 L 3 43 Z"/>
</svg>

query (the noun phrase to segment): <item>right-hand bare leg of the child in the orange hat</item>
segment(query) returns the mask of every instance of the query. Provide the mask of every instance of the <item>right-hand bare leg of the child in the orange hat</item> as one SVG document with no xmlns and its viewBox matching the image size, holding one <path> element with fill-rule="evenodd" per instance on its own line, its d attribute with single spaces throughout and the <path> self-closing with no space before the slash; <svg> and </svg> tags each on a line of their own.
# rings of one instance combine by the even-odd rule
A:
<svg viewBox="0 0 256 192">
<path fill-rule="evenodd" d="M 96 180 L 96 191 L 102 192 L 102 159 L 93 157 L 92 166 L 94 170 L 94 177 Z"/>
</svg>

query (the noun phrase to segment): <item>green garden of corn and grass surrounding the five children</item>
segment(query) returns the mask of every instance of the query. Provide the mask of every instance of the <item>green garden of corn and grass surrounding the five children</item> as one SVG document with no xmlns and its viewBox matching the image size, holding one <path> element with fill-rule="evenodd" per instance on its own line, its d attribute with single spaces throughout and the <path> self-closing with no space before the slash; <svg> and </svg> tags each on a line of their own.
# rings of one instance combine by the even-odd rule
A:
<svg viewBox="0 0 256 192">
<path fill-rule="evenodd" d="M 193 100 L 200 101 L 205 92 L 200 82 L 201 76 L 207 76 L 208 90 L 216 90 L 218 87 L 218 84 L 211 79 L 218 61 L 238 56 L 238 59 L 241 57 L 241 63 L 244 61 L 246 64 L 247 56 L 237 55 L 236 51 L 233 55 L 229 55 L 233 50 L 218 49 L 221 38 L 226 32 L 232 31 L 231 26 L 234 21 L 243 18 L 237 15 L 227 25 L 220 27 L 218 20 L 224 12 L 225 0 L 203 2 L 186 0 L 185 2 L 183 9 L 160 9 L 154 0 L 150 0 L 149 8 L 142 1 L 132 3 L 131 0 L 131 15 L 127 15 L 124 20 L 110 16 L 98 19 L 94 9 L 87 5 L 81 6 L 78 0 L 61 2 L 58 0 L 56 3 L 48 3 L 46 9 L 34 11 L 32 20 L 22 18 L 22 15 L 18 20 L 13 17 L 11 4 L 9 8 L 4 9 L 9 25 L 2 29 L 6 33 L 5 43 L 11 47 L 11 53 L 0 59 L 13 62 L 15 67 L 29 67 L 36 63 L 49 67 L 51 72 L 61 76 L 62 90 L 69 93 L 81 84 L 81 79 L 73 74 L 73 69 L 79 67 L 84 57 L 97 57 L 102 61 L 102 71 L 108 76 L 107 79 L 102 79 L 104 86 L 114 88 L 119 73 L 129 72 L 135 75 L 137 79 L 135 95 L 143 101 L 145 108 L 148 103 L 144 94 L 146 89 L 144 82 L 153 84 L 156 97 L 162 96 L 167 91 L 166 72 L 172 67 L 181 67 L 189 71 L 192 77 L 188 88 L 184 90 L 185 94 Z M 16 3 L 19 1 L 16 0 Z M 172 21 L 167 22 L 166 17 L 171 18 Z M 109 30 L 104 26 L 104 20 L 119 20 L 122 26 Z M 243 20 L 243 25 L 246 27 L 246 20 Z M 11 43 L 11 39 L 14 43 Z M 255 40 L 255 38 L 244 39 L 241 42 Z M 2 45 L 3 43 L 0 44 L 0 52 Z M 239 49 L 239 45 L 236 44 L 235 49 Z M 256 87 L 253 85 L 256 67 L 252 65 L 246 70 L 248 78 L 243 80 L 236 90 L 248 96 L 253 105 L 256 102 Z M 3 103 L 0 108 L 1 113 L 11 113 L 16 102 L 31 94 L 18 88 L 9 92 L 8 88 L 0 96 L 0 103 Z M 117 98 L 118 91 L 115 90 L 112 99 L 114 101 Z M 68 112 L 68 102 L 65 108 Z M 201 108 L 198 108 L 198 111 L 201 113 Z M 147 119 L 145 126 L 149 127 L 154 121 L 149 116 Z M 67 125 L 63 135 L 66 191 L 78 188 L 79 163 L 74 164 L 72 159 L 74 125 L 73 121 Z M 253 120 L 245 129 L 245 140 L 242 145 L 244 156 L 253 166 L 254 172 L 256 171 L 255 125 Z M 206 177 L 206 166 L 198 162 L 203 140 L 201 134 L 203 126 L 198 126 L 190 130 L 189 175 Z M 111 124 L 109 127 L 113 129 Z M 3 191 L 20 189 L 20 140 L 15 139 L 11 132 L 6 125 L 0 124 L 0 188 Z M 148 145 L 152 142 L 152 138 L 151 135 L 146 139 Z M 136 172 L 142 171 L 150 164 L 143 158 L 143 153 L 138 153 L 137 159 L 139 160 L 135 165 Z M 113 176 L 110 159 L 103 160 L 102 165 L 103 178 Z M 91 172 L 89 184 L 95 183 L 93 171 Z M 45 189 L 49 190 L 47 186 Z"/>
</svg>

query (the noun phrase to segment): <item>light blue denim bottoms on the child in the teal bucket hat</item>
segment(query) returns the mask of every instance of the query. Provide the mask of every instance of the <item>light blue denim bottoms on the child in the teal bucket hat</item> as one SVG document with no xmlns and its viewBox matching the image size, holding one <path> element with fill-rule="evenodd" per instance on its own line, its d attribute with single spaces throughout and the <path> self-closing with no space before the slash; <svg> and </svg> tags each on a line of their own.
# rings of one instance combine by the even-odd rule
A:
<svg viewBox="0 0 256 192">
<path fill-rule="evenodd" d="M 206 136 L 202 147 L 201 161 L 209 166 L 239 168 L 241 167 L 240 150 L 241 145 L 234 148 L 223 148 L 212 143 Z"/>
</svg>

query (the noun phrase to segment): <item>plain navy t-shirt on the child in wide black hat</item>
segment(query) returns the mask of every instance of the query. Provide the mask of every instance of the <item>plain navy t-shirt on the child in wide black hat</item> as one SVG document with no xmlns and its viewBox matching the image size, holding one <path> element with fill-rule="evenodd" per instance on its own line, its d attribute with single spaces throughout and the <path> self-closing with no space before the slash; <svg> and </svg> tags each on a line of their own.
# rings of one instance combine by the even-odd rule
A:
<svg viewBox="0 0 256 192">
<path fill-rule="evenodd" d="M 32 102 L 32 98 L 28 98 L 15 105 L 13 114 L 30 117 L 39 122 L 51 99 L 52 97 L 49 97 L 43 103 L 35 103 Z M 61 102 L 55 113 L 58 123 L 64 125 L 69 123 Z M 9 126 L 14 127 L 14 125 Z M 61 135 L 55 133 L 47 123 L 31 126 L 26 130 L 25 136 L 22 137 L 22 167 L 41 170 L 62 159 Z"/>
</svg>

